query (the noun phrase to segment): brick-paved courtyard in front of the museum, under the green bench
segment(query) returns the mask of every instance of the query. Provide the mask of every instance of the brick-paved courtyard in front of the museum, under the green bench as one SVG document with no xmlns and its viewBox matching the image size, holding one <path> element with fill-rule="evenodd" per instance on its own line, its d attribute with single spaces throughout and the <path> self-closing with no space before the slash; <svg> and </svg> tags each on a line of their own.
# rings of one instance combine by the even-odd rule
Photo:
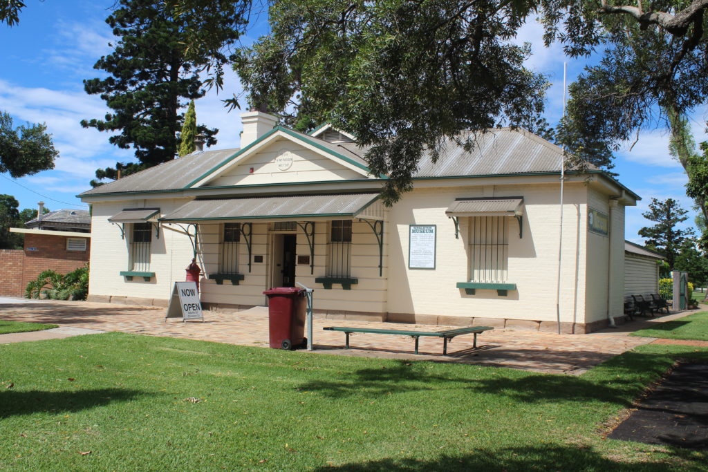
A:
<svg viewBox="0 0 708 472">
<path fill-rule="evenodd" d="M 5 300 L 7 301 L 7 300 Z M 205 322 L 164 321 L 165 309 L 76 301 L 0 304 L 0 319 L 56 323 L 62 328 L 122 331 L 258 347 L 268 346 L 268 309 L 256 307 L 238 313 L 205 311 Z M 352 335 L 352 349 L 344 349 L 344 333 L 324 331 L 324 326 L 354 326 L 403 330 L 444 330 L 444 326 L 372 323 L 315 318 L 316 352 L 366 357 L 426 359 L 439 362 L 511 367 L 537 372 L 581 374 L 595 364 L 653 338 L 617 335 L 557 335 L 537 331 L 493 330 L 478 338 L 472 350 L 472 335 L 455 338 L 442 356 L 442 340 L 421 338 L 420 355 L 413 354 L 407 336 Z"/>
</svg>

